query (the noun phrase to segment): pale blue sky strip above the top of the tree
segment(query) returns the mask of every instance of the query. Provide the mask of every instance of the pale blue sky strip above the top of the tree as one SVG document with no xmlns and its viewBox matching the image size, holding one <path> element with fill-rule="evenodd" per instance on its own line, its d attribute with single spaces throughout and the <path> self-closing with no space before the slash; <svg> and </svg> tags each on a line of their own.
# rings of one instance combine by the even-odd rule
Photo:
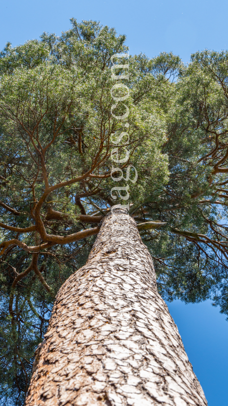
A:
<svg viewBox="0 0 228 406">
<path fill-rule="evenodd" d="M 1 2 L 0 48 L 38 38 L 43 31 L 69 28 L 69 18 L 96 20 L 126 34 L 131 53 L 149 57 L 173 51 L 184 62 L 190 54 L 228 48 L 225 0 L 9 0 Z"/>
</svg>

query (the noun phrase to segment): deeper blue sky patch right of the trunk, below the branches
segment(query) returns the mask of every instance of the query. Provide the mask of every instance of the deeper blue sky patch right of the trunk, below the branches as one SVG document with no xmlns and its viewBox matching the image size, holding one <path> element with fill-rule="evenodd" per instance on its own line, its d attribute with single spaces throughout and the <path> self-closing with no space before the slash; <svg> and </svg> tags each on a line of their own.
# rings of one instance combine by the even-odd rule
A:
<svg viewBox="0 0 228 406">
<path fill-rule="evenodd" d="M 209 300 L 167 303 L 208 406 L 227 406 L 228 322 Z"/>
</svg>

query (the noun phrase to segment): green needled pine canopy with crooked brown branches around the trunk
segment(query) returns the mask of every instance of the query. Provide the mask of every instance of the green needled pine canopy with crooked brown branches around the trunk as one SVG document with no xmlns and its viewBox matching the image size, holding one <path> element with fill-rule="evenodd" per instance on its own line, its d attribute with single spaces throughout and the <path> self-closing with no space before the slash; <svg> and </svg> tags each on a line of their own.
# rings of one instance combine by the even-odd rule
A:
<svg viewBox="0 0 228 406">
<path fill-rule="evenodd" d="M 184 65 L 129 56 L 111 114 L 111 57 L 125 36 L 97 22 L 0 53 L 1 402 L 22 404 L 54 296 L 82 266 L 126 185 L 161 295 L 228 312 L 228 53 Z M 121 61 L 121 59 L 119 59 Z M 124 58 L 122 57 L 122 61 Z M 118 61 L 119 63 L 119 61 Z M 116 77 L 123 69 L 115 69 Z M 117 80 L 117 79 L 116 79 Z M 123 89 L 115 89 L 124 98 Z M 120 120 L 125 108 L 129 115 Z M 117 117 L 117 118 L 116 118 Z M 126 126 L 127 125 L 127 126 Z M 119 141 L 119 134 L 127 134 Z M 113 162 L 112 149 L 119 147 Z M 137 180 L 135 179 L 135 169 Z M 116 198 L 114 198 L 116 195 Z M 158 228 L 161 223 L 166 223 Z"/>
</svg>

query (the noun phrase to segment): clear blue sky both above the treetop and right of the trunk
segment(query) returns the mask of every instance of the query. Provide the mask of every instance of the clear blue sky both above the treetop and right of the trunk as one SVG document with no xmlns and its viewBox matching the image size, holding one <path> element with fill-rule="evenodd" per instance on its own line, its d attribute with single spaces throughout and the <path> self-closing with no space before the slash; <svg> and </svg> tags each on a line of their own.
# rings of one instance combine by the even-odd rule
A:
<svg viewBox="0 0 228 406">
<path fill-rule="evenodd" d="M 70 27 L 69 18 L 96 20 L 126 34 L 131 54 L 148 57 L 162 51 L 190 54 L 204 48 L 228 48 L 227 0 L 8 0 L 1 2 L 0 49 L 39 38 L 43 32 L 60 35 Z M 168 303 L 178 326 L 208 406 L 227 406 L 228 322 L 208 301 L 185 305 Z"/>
</svg>

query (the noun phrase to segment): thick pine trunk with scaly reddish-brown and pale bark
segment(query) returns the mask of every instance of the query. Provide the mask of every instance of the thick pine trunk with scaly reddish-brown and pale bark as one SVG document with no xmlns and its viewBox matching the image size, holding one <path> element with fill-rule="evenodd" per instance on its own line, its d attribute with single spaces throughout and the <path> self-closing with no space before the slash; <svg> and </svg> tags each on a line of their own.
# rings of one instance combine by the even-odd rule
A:
<svg viewBox="0 0 228 406">
<path fill-rule="evenodd" d="M 85 266 L 60 288 L 44 337 L 26 406 L 207 405 L 124 209 L 104 218 Z"/>
</svg>

